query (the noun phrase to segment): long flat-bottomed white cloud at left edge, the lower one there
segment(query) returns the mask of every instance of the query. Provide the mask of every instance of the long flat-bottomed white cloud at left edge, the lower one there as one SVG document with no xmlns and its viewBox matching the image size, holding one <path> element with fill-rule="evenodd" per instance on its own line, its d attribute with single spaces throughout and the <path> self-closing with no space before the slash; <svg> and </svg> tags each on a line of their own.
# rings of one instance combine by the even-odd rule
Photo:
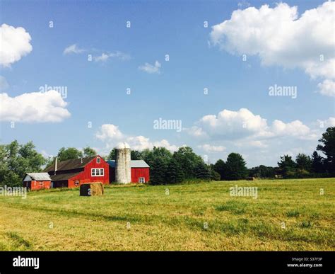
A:
<svg viewBox="0 0 335 274">
<path fill-rule="evenodd" d="M 16 97 L 0 93 L 0 102 L 1 121 L 61 122 L 71 115 L 57 91 L 23 93 Z"/>
</svg>

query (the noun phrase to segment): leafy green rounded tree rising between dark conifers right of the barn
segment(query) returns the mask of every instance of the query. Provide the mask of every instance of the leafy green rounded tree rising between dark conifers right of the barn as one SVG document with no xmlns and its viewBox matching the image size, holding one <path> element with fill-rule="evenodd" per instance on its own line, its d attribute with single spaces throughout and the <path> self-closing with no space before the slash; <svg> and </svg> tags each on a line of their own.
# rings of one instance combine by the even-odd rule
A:
<svg viewBox="0 0 335 274">
<path fill-rule="evenodd" d="M 184 171 L 186 179 L 196 178 L 195 167 L 204 162 L 201 156 L 196 155 L 191 147 L 180 147 L 173 156 Z"/>
</svg>

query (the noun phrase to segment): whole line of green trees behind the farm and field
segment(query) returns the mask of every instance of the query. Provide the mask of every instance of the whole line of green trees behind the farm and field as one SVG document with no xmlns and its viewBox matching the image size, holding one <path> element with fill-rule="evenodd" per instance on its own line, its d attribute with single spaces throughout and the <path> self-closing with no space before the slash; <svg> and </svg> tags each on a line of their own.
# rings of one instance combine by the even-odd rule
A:
<svg viewBox="0 0 335 274">
<path fill-rule="evenodd" d="M 218 159 L 215 164 L 207 164 L 191 147 L 180 147 L 170 152 L 164 147 L 153 147 L 143 151 L 131 150 L 131 159 L 143 159 L 150 166 L 150 183 L 182 183 L 183 181 L 240 180 L 247 176 L 257 178 L 309 178 L 335 176 L 335 127 L 328 127 L 322 134 L 315 152 L 311 156 L 298 154 L 295 160 L 283 155 L 278 166 L 256 166 L 247 169 L 245 159 L 238 153 L 230 153 L 227 159 Z M 321 156 L 317 151 L 322 152 Z M 59 161 L 95 156 L 90 147 L 82 150 L 61 147 L 57 154 Z M 104 159 L 115 159 L 112 149 Z M 45 158 L 35 149 L 33 142 L 0 145 L 0 185 L 21 185 L 27 172 L 40 172 L 54 163 L 52 157 Z"/>
</svg>

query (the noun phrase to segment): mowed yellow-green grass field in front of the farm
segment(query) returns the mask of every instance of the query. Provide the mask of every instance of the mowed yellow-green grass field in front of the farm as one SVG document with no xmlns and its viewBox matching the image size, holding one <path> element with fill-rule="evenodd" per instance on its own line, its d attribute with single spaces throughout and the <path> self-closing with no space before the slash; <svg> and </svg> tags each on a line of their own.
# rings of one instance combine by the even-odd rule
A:
<svg viewBox="0 0 335 274">
<path fill-rule="evenodd" d="M 40 190 L 0 197 L 0 250 L 335 250 L 334 205 L 335 178 Z"/>
</svg>

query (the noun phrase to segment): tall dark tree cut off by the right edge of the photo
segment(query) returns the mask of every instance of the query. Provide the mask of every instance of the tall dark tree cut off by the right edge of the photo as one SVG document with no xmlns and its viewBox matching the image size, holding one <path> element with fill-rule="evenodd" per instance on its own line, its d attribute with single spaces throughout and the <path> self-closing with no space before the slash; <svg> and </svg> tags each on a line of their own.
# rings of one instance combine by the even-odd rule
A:
<svg viewBox="0 0 335 274">
<path fill-rule="evenodd" d="M 335 172 L 335 127 L 328 127 L 319 139 L 322 144 L 317 145 L 317 150 L 323 152 L 327 158 L 324 164 L 329 172 Z"/>
</svg>

